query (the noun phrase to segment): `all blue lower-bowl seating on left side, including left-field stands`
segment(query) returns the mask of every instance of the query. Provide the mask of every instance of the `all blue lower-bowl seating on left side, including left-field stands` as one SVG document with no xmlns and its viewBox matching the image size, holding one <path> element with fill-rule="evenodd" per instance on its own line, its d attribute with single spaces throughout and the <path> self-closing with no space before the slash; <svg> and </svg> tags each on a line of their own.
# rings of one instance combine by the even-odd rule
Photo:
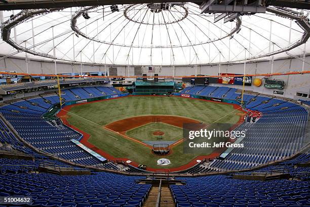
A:
<svg viewBox="0 0 310 207">
<path fill-rule="evenodd" d="M 107 87 L 102 87 L 107 88 Z M 84 89 L 70 89 L 80 98 L 90 98 L 90 93 Z M 64 90 L 65 100 L 78 100 L 70 90 Z M 98 96 L 100 91 L 96 88 L 87 88 L 92 93 Z M 105 89 L 107 90 L 107 89 Z M 112 90 L 108 89 L 110 93 Z M 115 90 L 115 89 L 113 89 Z M 96 92 L 96 93 L 95 93 Z M 103 94 L 101 94 L 103 96 Z M 48 100 L 48 101 L 46 101 Z M 47 103 L 50 102 L 50 103 Z M 35 103 L 35 104 L 31 104 Z M 59 103 L 58 96 L 49 96 L 43 98 L 30 99 L 27 101 L 20 101 L 12 103 L 11 105 L 5 105 L 0 108 L 0 112 L 11 123 L 17 133 L 25 141 L 31 143 L 37 149 L 44 150 L 48 153 L 54 154 L 61 158 L 70 160 L 75 163 L 86 165 L 99 165 L 105 168 L 111 168 L 118 170 L 118 167 L 113 163 L 103 165 L 101 161 L 97 160 L 89 153 L 82 150 L 80 147 L 72 143 L 71 139 L 79 140 L 81 134 L 77 133 L 65 126 L 52 126 L 50 123 L 42 118 L 42 115 L 48 111 L 52 104 Z M 0 120 L 0 142 L 5 144 L 11 144 L 15 149 L 23 151 L 25 153 L 33 154 L 32 150 L 24 147 L 19 142 L 5 123 Z"/>
</svg>

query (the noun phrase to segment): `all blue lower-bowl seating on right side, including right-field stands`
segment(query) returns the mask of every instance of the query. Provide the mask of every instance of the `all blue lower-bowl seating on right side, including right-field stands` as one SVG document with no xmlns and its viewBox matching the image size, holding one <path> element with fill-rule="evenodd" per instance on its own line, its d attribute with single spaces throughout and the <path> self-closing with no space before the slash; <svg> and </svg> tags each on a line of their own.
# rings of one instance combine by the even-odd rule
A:
<svg viewBox="0 0 310 207">
<path fill-rule="evenodd" d="M 197 89 L 196 89 L 197 88 Z M 214 98 L 237 99 L 237 89 L 208 86 L 186 87 L 180 93 Z M 308 112 L 301 106 L 284 100 L 244 94 L 246 108 L 263 113 L 256 123 L 243 123 L 238 130 L 246 130 L 243 148 L 233 149 L 224 160 L 214 159 L 208 167 L 199 165 L 189 173 L 238 170 L 255 167 L 296 153 L 306 142 L 304 131 Z"/>
</svg>

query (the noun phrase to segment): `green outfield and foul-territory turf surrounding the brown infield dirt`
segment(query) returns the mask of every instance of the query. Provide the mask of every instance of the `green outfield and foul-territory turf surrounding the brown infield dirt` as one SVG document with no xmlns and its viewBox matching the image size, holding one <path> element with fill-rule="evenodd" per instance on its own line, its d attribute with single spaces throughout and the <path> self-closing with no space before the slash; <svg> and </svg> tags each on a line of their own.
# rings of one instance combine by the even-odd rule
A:
<svg viewBox="0 0 310 207">
<path fill-rule="evenodd" d="M 216 121 L 233 125 L 239 120 L 238 113 L 240 111 L 235 110 L 232 105 L 222 103 L 181 97 L 129 96 L 73 106 L 67 119 L 71 125 L 91 135 L 88 140 L 91 144 L 114 157 L 127 157 L 152 168 L 173 168 L 202 154 L 184 154 L 182 144 L 179 144 L 173 148 L 172 154 L 166 156 L 171 164 L 161 167 L 156 164 L 160 157 L 152 154 L 149 148 L 105 130 L 102 126 L 141 115 L 177 115 L 204 123 Z M 211 152 L 212 149 L 207 148 L 203 155 Z"/>
</svg>

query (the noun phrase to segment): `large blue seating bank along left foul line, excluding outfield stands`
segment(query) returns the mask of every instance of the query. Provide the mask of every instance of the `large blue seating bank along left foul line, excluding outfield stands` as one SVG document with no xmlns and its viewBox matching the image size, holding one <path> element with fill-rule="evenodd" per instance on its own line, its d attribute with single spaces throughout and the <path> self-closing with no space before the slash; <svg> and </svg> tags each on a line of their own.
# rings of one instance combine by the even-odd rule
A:
<svg viewBox="0 0 310 207">
<path fill-rule="evenodd" d="M 41 116 L 32 115 L 29 118 L 25 114 L 1 112 L 18 134 L 34 147 L 75 163 L 87 165 L 101 163 L 70 141 L 71 139 L 80 139 L 81 134 L 63 126 L 54 127 Z"/>
</svg>

